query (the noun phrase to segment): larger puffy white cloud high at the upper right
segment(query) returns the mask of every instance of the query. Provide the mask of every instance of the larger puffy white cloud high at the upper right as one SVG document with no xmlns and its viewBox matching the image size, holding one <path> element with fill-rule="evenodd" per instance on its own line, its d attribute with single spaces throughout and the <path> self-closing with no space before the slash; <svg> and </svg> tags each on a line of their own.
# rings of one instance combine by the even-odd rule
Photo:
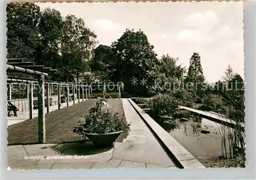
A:
<svg viewBox="0 0 256 180">
<path fill-rule="evenodd" d="M 205 13 L 194 13 L 184 18 L 185 25 L 205 31 L 211 30 L 218 22 L 219 18 L 214 11 Z"/>
</svg>

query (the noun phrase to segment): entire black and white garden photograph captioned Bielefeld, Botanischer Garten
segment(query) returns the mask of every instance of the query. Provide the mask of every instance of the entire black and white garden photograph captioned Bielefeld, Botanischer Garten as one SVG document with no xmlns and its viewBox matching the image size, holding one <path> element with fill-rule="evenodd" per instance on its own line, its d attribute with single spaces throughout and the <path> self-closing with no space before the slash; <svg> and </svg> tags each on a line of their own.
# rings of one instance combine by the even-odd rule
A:
<svg viewBox="0 0 256 180">
<path fill-rule="evenodd" d="M 243 10 L 8 3 L 7 168 L 245 168 Z"/>
</svg>

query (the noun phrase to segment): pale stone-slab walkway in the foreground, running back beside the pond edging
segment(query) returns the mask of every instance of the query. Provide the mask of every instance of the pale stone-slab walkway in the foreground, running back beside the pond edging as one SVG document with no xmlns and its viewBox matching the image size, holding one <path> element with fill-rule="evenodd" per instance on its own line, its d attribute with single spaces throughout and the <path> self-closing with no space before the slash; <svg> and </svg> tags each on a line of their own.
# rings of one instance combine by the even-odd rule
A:
<svg viewBox="0 0 256 180">
<path fill-rule="evenodd" d="M 100 149 L 91 142 L 8 146 L 8 166 L 25 170 L 176 169 L 129 101 L 122 102 L 126 120 L 132 124 L 121 143 Z"/>
</svg>

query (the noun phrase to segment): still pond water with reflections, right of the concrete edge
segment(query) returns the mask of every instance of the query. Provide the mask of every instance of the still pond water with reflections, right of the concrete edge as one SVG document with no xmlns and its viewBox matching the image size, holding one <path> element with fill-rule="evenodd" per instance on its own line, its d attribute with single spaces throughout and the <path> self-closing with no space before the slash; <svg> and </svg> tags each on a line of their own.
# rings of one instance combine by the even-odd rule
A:
<svg viewBox="0 0 256 180">
<path fill-rule="evenodd" d="M 152 118 L 205 167 L 238 167 L 238 159 L 223 158 L 222 125 L 198 116 L 190 117 L 185 122 L 180 119 Z M 210 132 L 202 133 L 201 129 Z M 225 146 L 229 154 L 228 141 Z"/>
</svg>

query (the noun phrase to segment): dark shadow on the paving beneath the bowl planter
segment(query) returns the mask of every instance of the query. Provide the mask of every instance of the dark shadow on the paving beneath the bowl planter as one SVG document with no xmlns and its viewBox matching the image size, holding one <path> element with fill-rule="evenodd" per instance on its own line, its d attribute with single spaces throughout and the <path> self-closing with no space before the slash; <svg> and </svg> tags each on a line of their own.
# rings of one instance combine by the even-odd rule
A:
<svg viewBox="0 0 256 180">
<path fill-rule="evenodd" d="M 88 142 L 76 142 L 76 143 L 65 143 L 56 144 L 53 146 L 42 147 L 41 149 L 50 148 L 54 150 L 57 154 L 61 155 L 93 155 L 99 154 L 105 151 L 109 151 L 114 147 L 112 145 L 108 148 L 97 148 L 91 141 Z"/>
</svg>

